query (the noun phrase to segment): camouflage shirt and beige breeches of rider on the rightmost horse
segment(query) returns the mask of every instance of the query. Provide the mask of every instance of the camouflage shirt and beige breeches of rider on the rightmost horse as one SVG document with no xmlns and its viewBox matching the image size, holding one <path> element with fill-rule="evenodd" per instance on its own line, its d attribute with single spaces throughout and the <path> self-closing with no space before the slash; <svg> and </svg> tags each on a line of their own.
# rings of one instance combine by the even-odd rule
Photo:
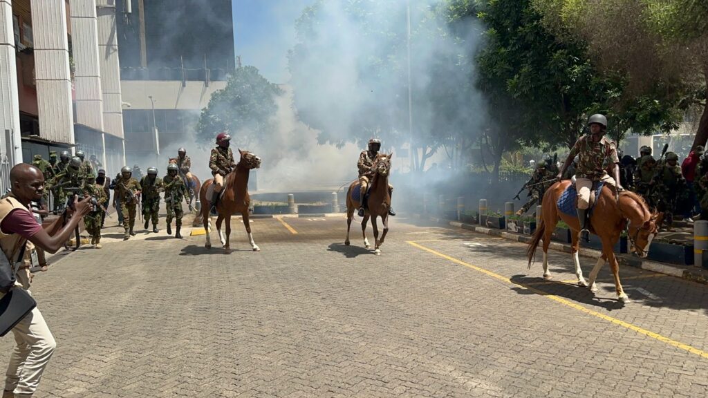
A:
<svg viewBox="0 0 708 398">
<path fill-rule="evenodd" d="M 604 181 L 606 184 L 616 186 L 615 178 L 607 175 L 605 159 L 610 164 L 619 163 L 617 145 L 608 137 L 602 137 L 598 142 L 593 141 L 593 136 L 583 135 L 573 145 L 570 157 L 578 156 L 576 165 L 576 188 L 578 188 L 578 209 L 586 210 L 590 207 L 590 189 L 593 183 Z"/>
</svg>

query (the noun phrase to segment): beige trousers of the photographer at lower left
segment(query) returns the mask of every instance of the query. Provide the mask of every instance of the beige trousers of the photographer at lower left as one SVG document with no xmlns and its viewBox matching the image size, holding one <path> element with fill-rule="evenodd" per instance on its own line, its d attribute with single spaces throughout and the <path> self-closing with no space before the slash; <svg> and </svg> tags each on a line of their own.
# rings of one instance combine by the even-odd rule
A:
<svg viewBox="0 0 708 398">
<path fill-rule="evenodd" d="M 40 384 L 57 342 L 37 307 L 13 327 L 12 333 L 16 346 L 7 368 L 5 390 L 14 391 L 17 398 L 31 397 Z"/>
</svg>

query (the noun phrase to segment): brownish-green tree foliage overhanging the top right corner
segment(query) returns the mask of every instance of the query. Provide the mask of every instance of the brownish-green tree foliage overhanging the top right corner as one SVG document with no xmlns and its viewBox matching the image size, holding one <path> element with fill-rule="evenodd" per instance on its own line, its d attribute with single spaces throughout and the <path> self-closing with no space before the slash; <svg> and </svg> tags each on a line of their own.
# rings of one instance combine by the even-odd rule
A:
<svg viewBox="0 0 708 398">
<path fill-rule="evenodd" d="M 624 127 L 678 127 L 702 107 L 694 146 L 708 140 L 708 3 L 704 0 L 533 0 L 563 40 L 584 40 L 608 74 L 625 76 Z M 627 38 L 632 38 L 627 40 Z M 623 113 L 624 112 L 624 113 Z"/>
</svg>

